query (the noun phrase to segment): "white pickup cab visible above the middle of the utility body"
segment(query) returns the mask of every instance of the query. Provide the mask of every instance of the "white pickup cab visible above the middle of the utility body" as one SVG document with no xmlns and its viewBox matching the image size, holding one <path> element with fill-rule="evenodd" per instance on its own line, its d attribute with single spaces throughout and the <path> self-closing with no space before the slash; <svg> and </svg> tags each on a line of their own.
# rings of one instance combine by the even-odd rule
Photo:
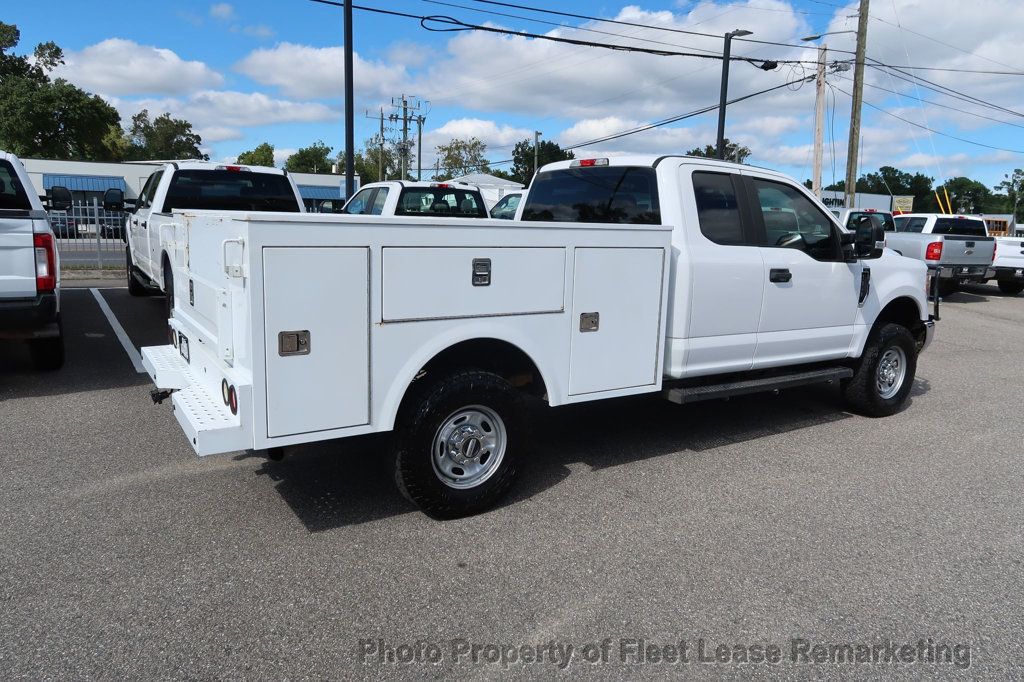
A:
<svg viewBox="0 0 1024 682">
<path fill-rule="evenodd" d="M 342 213 L 444 218 L 487 218 L 480 189 L 462 182 L 371 182 L 352 195 Z"/>
</svg>

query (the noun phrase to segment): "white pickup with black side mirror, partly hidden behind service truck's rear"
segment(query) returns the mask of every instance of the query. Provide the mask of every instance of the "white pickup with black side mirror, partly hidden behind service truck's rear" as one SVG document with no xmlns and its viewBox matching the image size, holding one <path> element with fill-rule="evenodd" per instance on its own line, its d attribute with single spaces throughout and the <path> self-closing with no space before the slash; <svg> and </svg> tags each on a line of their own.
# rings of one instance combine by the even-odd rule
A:
<svg viewBox="0 0 1024 682">
<path fill-rule="evenodd" d="M 124 210 L 119 190 L 108 191 L 103 208 Z M 286 171 L 264 166 L 232 166 L 205 161 L 166 164 L 142 185 L 127 218 L 125 267 L 128 292 L 144 296 L 171 293 L 169 282 L 178 265 L 171 256 L 171 212 L 175 210 L 272 211 L 303 213 L 299 188 Z M 168 311 L 173 307 L 168 296 Z"/>
</svg>

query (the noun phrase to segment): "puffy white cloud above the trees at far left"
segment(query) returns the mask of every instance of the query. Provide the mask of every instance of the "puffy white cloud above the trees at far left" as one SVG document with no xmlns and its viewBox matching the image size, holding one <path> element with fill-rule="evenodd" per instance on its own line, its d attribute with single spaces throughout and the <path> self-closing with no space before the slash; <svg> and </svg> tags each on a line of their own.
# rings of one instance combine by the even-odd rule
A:
<svg viewBox="0 0 1024 682">
<path fill-rule="evenodd" d="M 110 38 L 65 53 L 55 76 L 104 94 L 179 94 L 223 83 L 202 61 L 186 61 L 169 49 Z"/>
</svg>

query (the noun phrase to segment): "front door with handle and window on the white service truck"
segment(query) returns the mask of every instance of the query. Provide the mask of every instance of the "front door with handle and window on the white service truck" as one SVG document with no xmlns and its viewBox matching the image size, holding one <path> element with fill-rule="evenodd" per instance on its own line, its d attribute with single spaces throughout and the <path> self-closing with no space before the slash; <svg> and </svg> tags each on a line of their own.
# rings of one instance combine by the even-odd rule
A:
<svg viewBox="0 0 1024 682">
<path fill-rule="evenodd" d="M 752 174 L 745 180 L 763 230 L 766 287 L 754 367 L 846 357 L 863 265 L 844 262 L 839 228 L 799 188 Z"/>
</svg>

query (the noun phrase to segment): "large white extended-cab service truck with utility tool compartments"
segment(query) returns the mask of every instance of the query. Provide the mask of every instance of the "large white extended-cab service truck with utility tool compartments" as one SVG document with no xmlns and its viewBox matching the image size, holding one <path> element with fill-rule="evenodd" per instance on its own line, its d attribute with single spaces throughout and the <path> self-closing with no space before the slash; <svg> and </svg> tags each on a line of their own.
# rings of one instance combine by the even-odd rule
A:
<svg viewBox="0 0 1024 682">
<path fill-rule="evenodd" d="M 521 221 L 185 211 L 174 342 L 142 349 L 199 455 L 394 430 L 399 489 L 474 513 L 529 466 L 525 394 L 685 403 L 841 384 L 903 408 L 924 263 L 800 183 L 679 156 L 546 166 Z"/>
</svg>

